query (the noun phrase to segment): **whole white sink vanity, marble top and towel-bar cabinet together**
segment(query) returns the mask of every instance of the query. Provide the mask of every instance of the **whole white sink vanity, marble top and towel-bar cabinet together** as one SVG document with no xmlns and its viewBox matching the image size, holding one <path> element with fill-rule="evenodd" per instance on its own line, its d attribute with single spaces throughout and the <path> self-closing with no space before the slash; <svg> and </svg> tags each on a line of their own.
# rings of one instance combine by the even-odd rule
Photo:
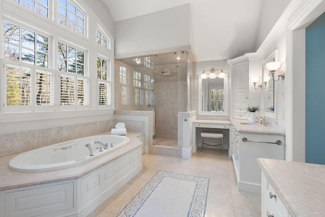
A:
<svg viewBox="0 0 325 217">
<path fill-rule="evenodd" d="M 231 119 L 231 149 L 238 190 L 261 193 L 257 158 L 285 159 L 285 132 L 273 126 Z"/>
</svg>

